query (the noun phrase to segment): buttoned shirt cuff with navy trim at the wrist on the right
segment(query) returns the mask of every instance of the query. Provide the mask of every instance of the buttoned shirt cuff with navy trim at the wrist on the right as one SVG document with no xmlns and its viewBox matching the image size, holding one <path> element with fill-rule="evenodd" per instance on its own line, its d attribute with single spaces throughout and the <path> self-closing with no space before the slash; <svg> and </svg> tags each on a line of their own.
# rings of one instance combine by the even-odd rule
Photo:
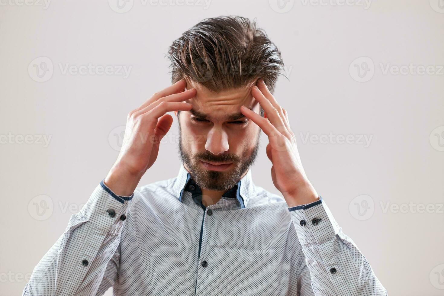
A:
<svg viewBox="0 0 444 296">
<path fill-rule="evenodd" d="M 289 208 L 301 245 L 318 245 L 333 240 L 340 231 L 330 209 L 319 197 L 318 201 Z"/>
</svg>

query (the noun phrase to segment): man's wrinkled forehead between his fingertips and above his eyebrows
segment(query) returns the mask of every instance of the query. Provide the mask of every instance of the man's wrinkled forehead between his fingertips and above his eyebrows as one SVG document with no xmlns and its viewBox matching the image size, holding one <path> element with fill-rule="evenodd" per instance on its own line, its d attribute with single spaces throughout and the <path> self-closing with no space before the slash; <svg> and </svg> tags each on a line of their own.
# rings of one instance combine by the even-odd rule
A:
<svg viewBox="0 0 444 296">
<path fill-rule="evenodd" d="M 259 110 L 258 102 L 251 95 L 251 88 L 255 84 L 256 81 L 245 87 L 214 92 L 186 79 L 186 89 L 196 89 L 194 98 L 186 100 L 186 103 L 190 103 L 193 110 L 206 114 L 208 119 L 224 120 L 228 115 L 240 113 L 242 105 Z"/>
</svg>

